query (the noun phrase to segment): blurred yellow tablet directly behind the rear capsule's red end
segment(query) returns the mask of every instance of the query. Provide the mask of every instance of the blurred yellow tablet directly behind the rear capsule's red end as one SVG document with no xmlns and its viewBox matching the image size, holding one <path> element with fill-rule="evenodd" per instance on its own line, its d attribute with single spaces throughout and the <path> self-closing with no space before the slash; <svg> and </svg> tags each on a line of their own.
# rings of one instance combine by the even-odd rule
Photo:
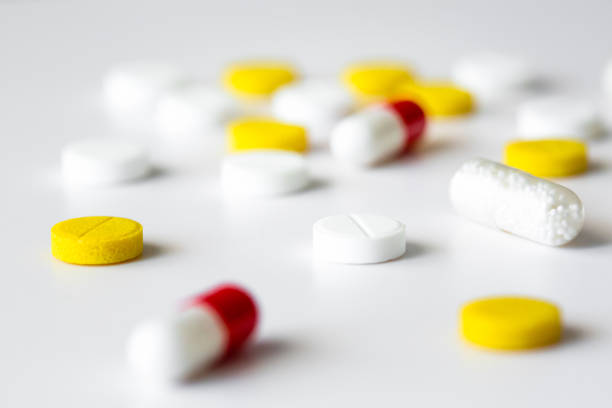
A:
<svg viewBox="0 0 612 408">
<path fill-rule="evenodd" d="M 394 96 L 418 103 L 428 116 L 458 116 L 474 110 L 472 95 L 446 82 L 403 82 Z"/>
</svg>

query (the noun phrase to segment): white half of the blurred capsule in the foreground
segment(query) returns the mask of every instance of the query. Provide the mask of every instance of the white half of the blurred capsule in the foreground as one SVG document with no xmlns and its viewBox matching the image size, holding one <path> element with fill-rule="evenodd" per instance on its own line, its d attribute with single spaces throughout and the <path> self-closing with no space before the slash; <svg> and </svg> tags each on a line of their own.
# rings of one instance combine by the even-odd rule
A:
<svg viewBox="0 0 612 408">
<path fill-rule="evenodd" d="M 184 381 L 224 354 L 228 335 L 217 314 L 205 306 L 141 323 L 127 342 L 127 361 L 140 377 Z"/>
</svg>

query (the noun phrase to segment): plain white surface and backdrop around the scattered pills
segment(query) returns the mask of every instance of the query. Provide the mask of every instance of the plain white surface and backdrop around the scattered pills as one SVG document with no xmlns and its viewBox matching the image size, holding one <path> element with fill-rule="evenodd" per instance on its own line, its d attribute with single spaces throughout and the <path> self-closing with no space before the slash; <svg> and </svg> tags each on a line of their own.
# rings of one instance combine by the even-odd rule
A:
<svg viewBox="0 0 612 408">
<path fill-rule="evenodd" d="M 462 161 L 501 158 L 512 106 L 434 126 L 420 152 L 367 172 L 314 152 L 320 181 L 280 199 L 224 198 L 220 140 L 118 188 L 69 190 L 58 173 L 67 141 L 129 136 L 99 103 L 104 72 L 125 60 L 175 62 L 216 81 L 226 63 L 249 56 L 286 57 L 330 76 L 354 58 L 388 56 L 444 77 L 458 56 L 494 49 L 530 59 L 555 92 L 599 101 L 612 3 L 567 3 L 0 1 L 0 405 L 609 406 L 608 139 L 591 144 L 592 171 L 561 181 L 587 211 L 582 235 L 564 248 L 471 224 L 450 208 L 448 180 Z M 406 224 L 406 256 L 313 263 L 312 223 L 364 211 Z M 51 226 L 84 215 L 140 221 L 143 257 L 110 267 L 53 259 Z M 189 385 L 132 379 L 123 361 L 130 328 L 223 281 L 259 300 L 252 347 Z M 507 293 L 558 303 L 565 341 L 520 354 L 464 344 L 460 305 Z"/>
</svg>

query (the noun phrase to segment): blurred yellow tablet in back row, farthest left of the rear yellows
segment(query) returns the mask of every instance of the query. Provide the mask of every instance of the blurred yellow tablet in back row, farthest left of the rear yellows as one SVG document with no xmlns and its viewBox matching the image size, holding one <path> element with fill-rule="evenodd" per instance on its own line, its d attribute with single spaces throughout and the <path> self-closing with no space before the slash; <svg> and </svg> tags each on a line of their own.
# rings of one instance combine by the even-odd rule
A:
<svg viewBox="0 0 612 408">
<path fill-rule="evenodd" d="M 229 66 L 223 74 L 225 87 L 234 95 L 246 99 L 261 99 L 278 88 L 293 82 L 295 68 L 283 62 L 247 61 Z"/>
</svg>

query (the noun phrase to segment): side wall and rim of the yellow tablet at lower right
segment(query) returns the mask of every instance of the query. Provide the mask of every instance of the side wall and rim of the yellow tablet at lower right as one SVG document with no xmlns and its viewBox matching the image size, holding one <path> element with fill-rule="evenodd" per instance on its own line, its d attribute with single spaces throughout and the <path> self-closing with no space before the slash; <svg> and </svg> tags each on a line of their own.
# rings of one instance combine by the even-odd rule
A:
<svg viewBox="0 0 612 408">
<path fill-rule="evenodd" d="M 517 328 L 482 327 L 475 319 L 469 317 L 470 308 L 483 301 L 522 299 L 540 303 L 553 311 L 550 321 L 532 327 L 530 331 Z M 482 322 L 480 322 L 482 323 Z M 561 311 L 553 303 L 528 297 L 488 297 L 476 299 L 463 305 L 460 311 L 460 336 L 472 345 L 489 350 L 523 351 L 552 346 L 561 341 L 563 324 Z"/>
</svg>

